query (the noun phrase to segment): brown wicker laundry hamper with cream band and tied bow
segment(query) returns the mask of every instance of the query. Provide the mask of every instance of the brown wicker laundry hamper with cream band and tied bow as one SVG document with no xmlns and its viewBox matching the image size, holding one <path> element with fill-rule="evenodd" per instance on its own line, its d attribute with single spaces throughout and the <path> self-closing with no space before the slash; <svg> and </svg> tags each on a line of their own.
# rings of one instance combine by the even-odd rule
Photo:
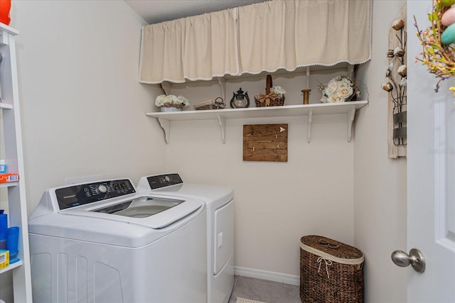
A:
<svg viewBox="0 0 455 303">
<path fill-rule="evenodd" d="M 323 236 L 300 239 L 301 302 L 363 302 L 363 253 Z"/>
</svg>

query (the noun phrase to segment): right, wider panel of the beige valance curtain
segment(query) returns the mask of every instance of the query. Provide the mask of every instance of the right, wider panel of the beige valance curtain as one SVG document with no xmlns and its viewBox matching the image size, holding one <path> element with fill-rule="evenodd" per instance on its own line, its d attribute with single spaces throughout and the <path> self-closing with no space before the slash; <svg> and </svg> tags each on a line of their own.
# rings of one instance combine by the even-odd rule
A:
<svg viewBox="0 0 455 303">
<path fill-rule="evenodd" d="M 267 1 L 238 8 L 240 73 L 370 60 L 370 1 Z"/>
</svg>

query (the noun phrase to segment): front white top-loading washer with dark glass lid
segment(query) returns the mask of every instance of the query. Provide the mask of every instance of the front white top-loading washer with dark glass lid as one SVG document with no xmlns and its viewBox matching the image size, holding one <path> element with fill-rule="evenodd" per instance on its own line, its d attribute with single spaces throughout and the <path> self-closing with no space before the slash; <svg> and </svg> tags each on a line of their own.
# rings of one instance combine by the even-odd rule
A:
<svg viewBox="0 0 455 303">
<path fill-rule="evenodd" d="M 205 204 L 129 179 L 47 189 L 28 221 L 35 303 L 207 299 Z"/>
</svg>

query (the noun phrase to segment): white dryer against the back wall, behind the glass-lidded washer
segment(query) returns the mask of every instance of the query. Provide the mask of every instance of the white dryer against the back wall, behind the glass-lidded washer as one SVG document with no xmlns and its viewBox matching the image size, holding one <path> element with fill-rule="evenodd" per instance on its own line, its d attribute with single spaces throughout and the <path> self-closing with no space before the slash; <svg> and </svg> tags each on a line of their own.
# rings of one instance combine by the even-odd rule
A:
<svg viewBox="0 0 455 303">
<path fill-rule="evenodd" d="M 176 174 L 141 177 L 138 192 L 203 201 L 207 206 L 207 302 L 228 302 L 234 287 L 234 192 L 209 184 L 186 183 Z"/>
</svg>

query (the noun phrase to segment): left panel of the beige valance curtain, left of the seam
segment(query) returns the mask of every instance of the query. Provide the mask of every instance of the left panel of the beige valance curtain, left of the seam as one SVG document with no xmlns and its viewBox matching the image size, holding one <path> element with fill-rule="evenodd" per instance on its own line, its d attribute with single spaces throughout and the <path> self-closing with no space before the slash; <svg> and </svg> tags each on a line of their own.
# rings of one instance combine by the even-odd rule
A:
<svg viewBox="0 0 455 303">
<path fill-rule="evenodd" d="M 237 75 L 235 12 L 229 9 L 144 26 L 139 82 L 180 83 Z"/>
</svg>

